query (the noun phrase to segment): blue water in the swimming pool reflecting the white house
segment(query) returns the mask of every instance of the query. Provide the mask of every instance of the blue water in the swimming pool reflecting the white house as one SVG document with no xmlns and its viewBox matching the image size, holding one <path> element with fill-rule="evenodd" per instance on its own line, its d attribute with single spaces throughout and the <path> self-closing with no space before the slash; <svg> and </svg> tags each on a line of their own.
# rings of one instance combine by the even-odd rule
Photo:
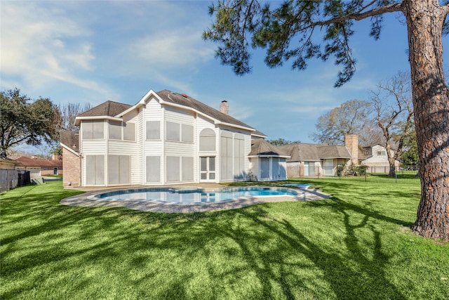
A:
<svg viewBox="0 0 449 300">
<path fill-rule="evenodd" d="M 224 188 L 210 190 L 202 188 L 138 188 L 116 190 L 90 197 L 91 200 L 153 201 L 160 203 L 206 203 L 225 202 L 239 198 L 297 196 L 288 188 Z"/>
</svg>

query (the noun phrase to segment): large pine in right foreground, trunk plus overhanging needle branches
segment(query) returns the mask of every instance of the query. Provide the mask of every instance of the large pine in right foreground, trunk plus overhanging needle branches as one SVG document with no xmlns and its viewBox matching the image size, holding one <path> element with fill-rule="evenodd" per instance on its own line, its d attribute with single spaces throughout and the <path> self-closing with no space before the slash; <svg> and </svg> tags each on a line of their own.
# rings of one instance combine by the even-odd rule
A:
<svg viewBox="0 0 449 300">
<path fill-rule="evenodd" d="M 236 74 L 250 72 L 249 47 L 267 48 L 270 67 L 292 59 L 293 68 L 305 69 L 307 60 L 328 60 L 342 65 L 335 86 L 351 79 L 356 60 L 349 38 L 354 21 L 370 19 L 370 35 L 380 37 L 382 15 L 403 13 L 408 29 L 409 61 L 415 127 L 420 156 L 421 200 L 413 230 L 420 235 L 449 240 L 449 94 L 443 74 L 443 33 L 449 1 L 438 0 L 316 0 L 283 1 L 276 8 L 257 0 L 218 1 L 203 38 L 220 46 L 217 56 Z M 325 30 L 324 46 L 312 39 Z M 295 44 L 297 42 L 297 44 Z"/>
</svg>

